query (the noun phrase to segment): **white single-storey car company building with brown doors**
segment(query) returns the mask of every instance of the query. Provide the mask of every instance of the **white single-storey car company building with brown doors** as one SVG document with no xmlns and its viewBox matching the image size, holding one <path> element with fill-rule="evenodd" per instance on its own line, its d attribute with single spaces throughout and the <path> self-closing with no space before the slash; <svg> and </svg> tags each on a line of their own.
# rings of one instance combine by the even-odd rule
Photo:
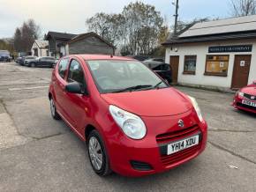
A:
<svg viewBox="0 0 256 192">
<path fill-rule="evenodd" d="M 256 15 L 200 22 L 163 46 L 180 85 L 237 89 L 256 79 Z"/>
</svg>

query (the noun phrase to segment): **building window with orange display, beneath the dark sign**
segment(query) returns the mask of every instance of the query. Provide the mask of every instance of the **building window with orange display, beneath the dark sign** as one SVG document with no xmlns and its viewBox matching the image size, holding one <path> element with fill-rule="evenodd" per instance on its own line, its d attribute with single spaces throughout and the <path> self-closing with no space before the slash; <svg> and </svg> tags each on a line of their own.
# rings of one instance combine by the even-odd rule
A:
<svg viewBox="0 0 256 192">
<path fill-rule="evenodd" d="M 230 55 L 207 55 L 205 75 L 227 77 Z"/>
</svg>

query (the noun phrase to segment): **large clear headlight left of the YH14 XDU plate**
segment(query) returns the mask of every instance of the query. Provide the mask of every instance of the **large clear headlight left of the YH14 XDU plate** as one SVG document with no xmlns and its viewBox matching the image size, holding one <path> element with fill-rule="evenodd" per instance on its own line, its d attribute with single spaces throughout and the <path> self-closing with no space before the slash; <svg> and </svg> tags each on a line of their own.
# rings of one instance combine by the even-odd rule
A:
<svg viewBox="0 0 256 192">
<path fill-rule="evenodd" d="M 126 136 L 132 139 L 141 139 L 146 136 L 147 128 L 138 115 L 112 105 L 109 106 L 109 112 Z"/>
</svg>

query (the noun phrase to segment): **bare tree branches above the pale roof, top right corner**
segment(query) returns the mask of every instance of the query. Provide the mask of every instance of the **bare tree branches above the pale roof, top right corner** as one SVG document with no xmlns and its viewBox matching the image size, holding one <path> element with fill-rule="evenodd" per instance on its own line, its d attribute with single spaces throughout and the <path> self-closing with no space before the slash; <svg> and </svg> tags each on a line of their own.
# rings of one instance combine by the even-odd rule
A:
<svg viewBox="0 0 256 192">
<path fill-rule="evenodd" d="M 235 17 L 256 14 L 256 0 L 230 0 L 231 15 Z"/>
</svg>

